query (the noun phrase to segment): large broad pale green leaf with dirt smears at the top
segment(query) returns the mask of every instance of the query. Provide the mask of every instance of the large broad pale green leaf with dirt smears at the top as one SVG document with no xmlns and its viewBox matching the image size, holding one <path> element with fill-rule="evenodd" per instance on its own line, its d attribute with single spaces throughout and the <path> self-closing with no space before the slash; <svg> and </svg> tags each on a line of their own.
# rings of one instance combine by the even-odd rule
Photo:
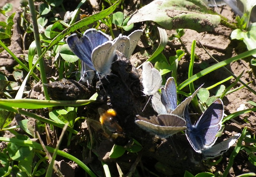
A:
<svg viewBox="0 0 256 177">
<path fill-rule="evenodd" d="M 140 8 L 127 25 L 142 21 L 154 21 L 168 30 L 188 28 L 201 33 L 217 27 L 220 16 L 208 14 L 200 0 L 158 0 Z"/>
</svg>

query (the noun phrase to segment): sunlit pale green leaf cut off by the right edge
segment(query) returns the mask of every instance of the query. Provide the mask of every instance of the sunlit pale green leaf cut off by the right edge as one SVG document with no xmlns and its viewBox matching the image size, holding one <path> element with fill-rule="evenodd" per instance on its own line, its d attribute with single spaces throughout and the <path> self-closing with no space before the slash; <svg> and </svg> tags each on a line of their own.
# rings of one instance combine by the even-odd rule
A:
<svg viewBox="0 0 256 177">
<path fill-rule="evenodd" d="M 234 30 L 231 35 L 231 39 L 243 40 L 246 44 L 248 50 L 252 50 L 256 48 L 256 23 L 252 23 L 248 27 L 248 31 L 244 32 L 241 29 Z M 256 53 L 253 54 L 256 57 Z"/>
</svg>

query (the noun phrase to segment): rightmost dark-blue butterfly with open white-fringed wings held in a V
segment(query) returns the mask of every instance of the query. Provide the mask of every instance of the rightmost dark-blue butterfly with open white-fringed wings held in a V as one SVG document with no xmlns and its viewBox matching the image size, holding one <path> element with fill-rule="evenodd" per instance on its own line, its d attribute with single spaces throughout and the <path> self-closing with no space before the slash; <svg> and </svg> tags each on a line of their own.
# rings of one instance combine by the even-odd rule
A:
<svg viewBox="0 0 256 177">
<path fill-rule="evenodd" d="M 192 125 L 188 107 L 184 111 L 186 120 L 186 136 L 192 148 L 202 153 L 203 150 L 209 149 L 216 142 L 216 135 L 221 129 L 221 121 L 224 115 L 223 102 L 220 99 L 215 100 L 202 114 L 195 125 Z"/>
</svg>

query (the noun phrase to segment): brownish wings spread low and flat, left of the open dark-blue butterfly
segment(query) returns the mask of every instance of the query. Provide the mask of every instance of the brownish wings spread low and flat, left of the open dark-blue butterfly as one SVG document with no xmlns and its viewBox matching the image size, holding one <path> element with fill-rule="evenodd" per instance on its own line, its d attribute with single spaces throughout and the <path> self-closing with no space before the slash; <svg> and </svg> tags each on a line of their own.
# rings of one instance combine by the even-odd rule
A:
<svg viewBox="0 0 256 177">
<path fill-rule="evenodd" d="M 166 138 L 186 129 L 184 119 L 173 114 L 162 114 L 157 117 L 151 116 L 150 119 L 137 115 L 135 123 L 140 128 L 161 138 Z"/>
</svg>

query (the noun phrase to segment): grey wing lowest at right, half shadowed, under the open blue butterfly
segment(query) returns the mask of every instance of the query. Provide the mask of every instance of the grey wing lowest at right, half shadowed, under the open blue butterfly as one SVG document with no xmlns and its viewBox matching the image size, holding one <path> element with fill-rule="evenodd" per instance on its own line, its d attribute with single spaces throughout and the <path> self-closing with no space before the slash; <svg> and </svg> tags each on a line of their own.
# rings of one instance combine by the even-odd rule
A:
<svg viewBox="0 0 256 177">
<path fill-rule="evenodd" d="M 203 150 L 202 154 L 204 159 L 211 159 L 217 156 L 222 155 L 224 152 L 227 152 L 228 149 L 236 143 L 236 140 L 241 136 L 240 133 L 237 133 L 234 136 L 231 136 L 230 138 L 222 141 L 219 144 L 216 144 L 212 146 L 209 149 Z"/>
</svg>

